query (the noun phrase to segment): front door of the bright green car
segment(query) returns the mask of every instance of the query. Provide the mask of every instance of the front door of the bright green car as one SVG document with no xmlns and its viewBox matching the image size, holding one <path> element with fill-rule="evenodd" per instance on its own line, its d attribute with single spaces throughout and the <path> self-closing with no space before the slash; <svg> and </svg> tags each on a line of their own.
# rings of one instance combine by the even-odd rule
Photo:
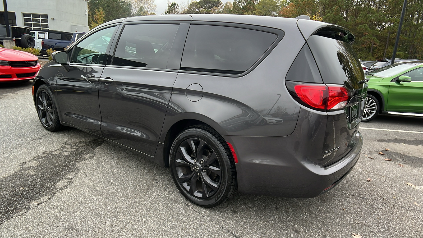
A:
<svg viewBox="0 0 423 238">
<path fill-rule="evenodd" d="M 410 83 L 390 83 L 387 111 L 423 113 L 423 67 L 405 74 L 411 77 Z"/>
</svg>

